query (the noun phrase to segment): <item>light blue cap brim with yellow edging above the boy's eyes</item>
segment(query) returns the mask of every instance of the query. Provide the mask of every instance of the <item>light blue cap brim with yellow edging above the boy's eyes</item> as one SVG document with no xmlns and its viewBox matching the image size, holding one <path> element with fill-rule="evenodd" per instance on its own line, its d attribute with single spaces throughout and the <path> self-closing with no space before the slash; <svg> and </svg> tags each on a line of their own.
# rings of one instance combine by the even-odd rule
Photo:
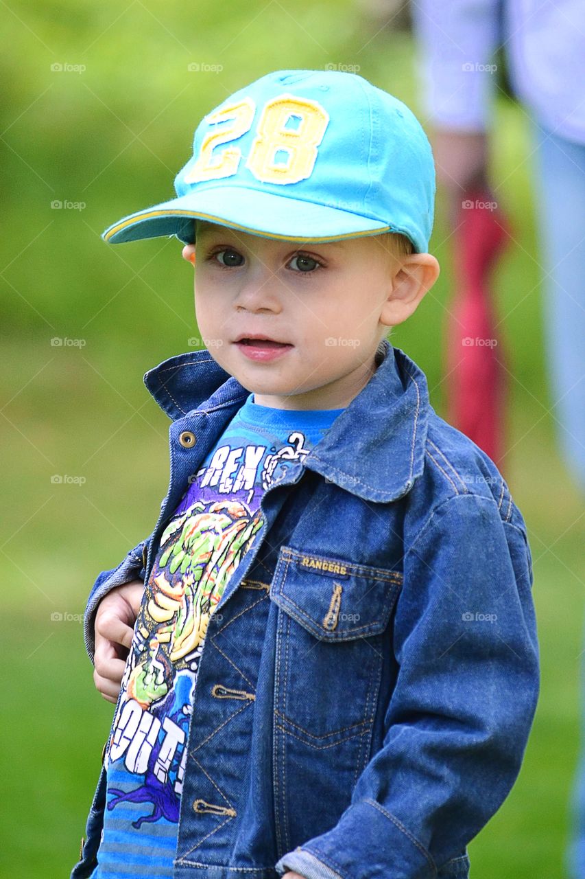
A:
<svg viewBox="0 0 585 879">
<path fill-rule="evenodd" d="M 241 229 L 252 235 L 297 241 L 336 241 L 394 231 L 379 220 L 336 207 L 223 185 L 188 193 L 130 214 L 105 229 L 102 237 L 108 243 L 121 244 L 174 235 L 184 243 L 192 243 L 192 220 L 195 219 Z"/>
</svg>

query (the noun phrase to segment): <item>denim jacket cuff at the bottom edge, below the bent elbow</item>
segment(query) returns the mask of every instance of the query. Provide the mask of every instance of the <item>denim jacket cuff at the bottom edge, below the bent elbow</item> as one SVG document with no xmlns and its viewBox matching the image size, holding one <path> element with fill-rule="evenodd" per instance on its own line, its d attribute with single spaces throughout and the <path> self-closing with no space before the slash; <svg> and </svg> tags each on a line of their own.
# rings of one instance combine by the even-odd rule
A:
<svg viewBox="0 0 585 879">
<path fill-rule="evenodd" d="M 375 800 L 343 812 L 336 826 L 284 854 L 286 867 L 307 879 L 435 879 L 430 853 L 401 821 Z"/>
</svg>

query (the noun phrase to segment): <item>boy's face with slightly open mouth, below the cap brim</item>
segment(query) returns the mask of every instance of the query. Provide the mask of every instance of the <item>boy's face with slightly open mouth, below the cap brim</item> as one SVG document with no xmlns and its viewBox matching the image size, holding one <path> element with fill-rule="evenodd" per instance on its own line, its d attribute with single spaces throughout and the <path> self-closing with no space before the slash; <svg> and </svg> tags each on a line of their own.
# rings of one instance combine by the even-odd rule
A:
<svg viewBox="0 0 585 879">
<path fill-rule="evenodd" d="M 375 371 L 390 325 L 400 260 L 388 246 L 385 236 L 302 243 L 198 221 L 183 256 L 195 257 L 206 348 L 260 405 L 343 408 Z M 272 342 L 245 341 L 254 335 Z"/>
</svg>

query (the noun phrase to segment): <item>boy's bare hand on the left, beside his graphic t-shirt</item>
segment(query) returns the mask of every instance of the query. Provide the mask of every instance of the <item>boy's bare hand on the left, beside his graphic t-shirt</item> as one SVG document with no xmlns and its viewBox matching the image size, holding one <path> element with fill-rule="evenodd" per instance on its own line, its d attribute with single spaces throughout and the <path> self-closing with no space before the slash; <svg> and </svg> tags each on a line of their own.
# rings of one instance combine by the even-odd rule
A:
<svg viewBox="0 0 585 879">
<path fill-rule="evenodd" d="M 142 580 L 133 580 L 116 586 L 97 606 L 93 680 L 104 699 L 114 705 L 118 701 L 143 592 Z"/>
</svg>

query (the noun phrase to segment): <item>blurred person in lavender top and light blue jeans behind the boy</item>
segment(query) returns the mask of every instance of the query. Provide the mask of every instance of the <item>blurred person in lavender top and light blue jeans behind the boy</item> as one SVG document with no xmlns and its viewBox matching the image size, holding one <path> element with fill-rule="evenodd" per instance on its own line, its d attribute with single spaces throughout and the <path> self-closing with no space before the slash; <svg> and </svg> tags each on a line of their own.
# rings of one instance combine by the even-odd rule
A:
<svg viewBox="0 0 585 879">
<path fill-rule="evenodd" d="M 496 203 L 488 175 L 491 111 L 500 87 L 494 76 L 496 50 L 503 50 L 512 91 L 530 116 L 534 156 L 527 159 L 534 163 L 537 194 L 551 411 L 561 454 L 585 492 L 585 4 L 582 0 L 554 4 L 542 0 L 416 0 L 411 14 L 423 80 L 423 119 L 434 129 L 437 179 L 448 193 L 455 247 L 458 256 L 467 251 L 480 261 L 482 248 L 491 251 L 484 260 L 486 270 L 502 243 L 497 241 L 495 227 L 500 232 L 505 229 L 502 214 L 498 217 L 493 210 Z M 478 205 L 491 205 L 492 210 L 478 210 Z M 480 214 L 483 220 L 478 219 Z M 483 307 L 489 312 L 489 302 Z M 490 353 L 494 359 L 493 348 Z M 450 356 L 458 355 L 450 352 Z M 475 384 L 476 399 L 489 401 L 500 387 L 495 383 L 495 389 Z M 458 386 L 451 385 L 451 389 L 453 395 L 460 391 Z M 451 411 L 457 415 L 456 403 L 451 399 Z M 493 421 L 497 415 L 502 423 L 501 408 L 488 405 L 484 412 Z M 454 420 L 466 430 L 460 419 L 459 424 L 458 418 Z M 471 439 L 498 457 L 498 426 L 472 428 Z M 482 441 L 490 429 L 492 439 L 496 432 L 493 448 Z M 585 679 L 583 685 L 581 693 Z M 585 698 L 581 699 L 582 717 Z M 583 879 L 582 736 L 571 819 L 567 869 L 571 879 Z"/>
</svg>

